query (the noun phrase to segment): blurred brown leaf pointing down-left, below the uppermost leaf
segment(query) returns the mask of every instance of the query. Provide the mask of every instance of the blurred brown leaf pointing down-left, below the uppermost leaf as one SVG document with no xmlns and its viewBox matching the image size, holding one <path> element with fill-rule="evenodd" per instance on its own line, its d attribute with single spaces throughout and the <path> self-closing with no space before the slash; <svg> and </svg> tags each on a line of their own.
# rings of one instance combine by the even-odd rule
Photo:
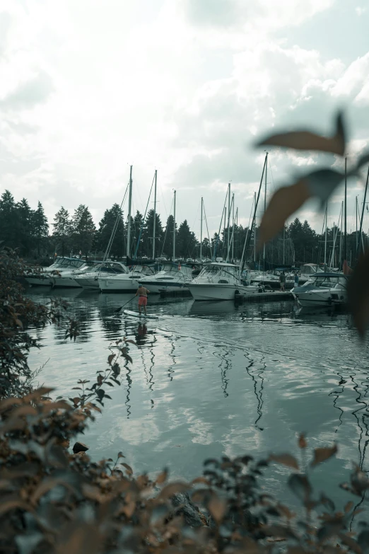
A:
<svg viewBox="0 0 369 554">
<path fill-rule="evenodd" d="M 294 185 L 281 187 L 274 192 L 262 217 L 259 229 L 259 248 L 283 229 L 283 225 L 310 197 L 307 183 L 300 179 Z"/>
</svg>

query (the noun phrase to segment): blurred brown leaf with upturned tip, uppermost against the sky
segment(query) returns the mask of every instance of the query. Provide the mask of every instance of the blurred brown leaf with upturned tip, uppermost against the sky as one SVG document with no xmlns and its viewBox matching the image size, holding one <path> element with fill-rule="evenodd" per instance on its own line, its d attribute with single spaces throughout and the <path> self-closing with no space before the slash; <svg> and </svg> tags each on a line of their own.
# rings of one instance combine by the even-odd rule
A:
<svg viewBox="0 0 369 554">
<path fill-rule="evenodd" d="M 266 146 L 267 144 L 292 148 L 294 150 L 332 152 L 332 154 L 343 156 L 345 151 L 345 132 L 342 112 L 339 112 L 336 116 L 336 129 L 332 137 L 322 137 L 319 134 L 301 130 L 272 134 L 258 142 L 256 146 Z"/>
</svg>

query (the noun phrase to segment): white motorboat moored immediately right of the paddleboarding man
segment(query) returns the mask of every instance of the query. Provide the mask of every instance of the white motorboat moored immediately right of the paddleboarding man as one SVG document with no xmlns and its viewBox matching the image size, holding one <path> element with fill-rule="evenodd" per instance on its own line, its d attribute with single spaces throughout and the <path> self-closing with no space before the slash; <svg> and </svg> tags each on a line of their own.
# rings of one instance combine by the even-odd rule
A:
<svg viewBox="0 0 369 554">
<path fill-rule="evenodd" d="M 162 291 L 188 291 L 187 285 L 192 282 L 192 278 L 192 267 L 166 263 L 156 275 L 139 279 L 139 284 L 143 284 L 153 294 L 160 294 Z"/>
</svg>

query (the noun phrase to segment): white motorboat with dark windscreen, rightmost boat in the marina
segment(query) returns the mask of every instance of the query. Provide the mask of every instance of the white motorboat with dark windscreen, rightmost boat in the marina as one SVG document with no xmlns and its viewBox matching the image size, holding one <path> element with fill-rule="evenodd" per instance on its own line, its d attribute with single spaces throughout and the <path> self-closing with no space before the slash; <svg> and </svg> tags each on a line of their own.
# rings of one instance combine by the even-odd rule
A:
<svg viewBox="0 0 369 554">
<path fill-rule="evenodd" d="M 292 289 L 293 298 L 301 306 L 346 304 L 348 277 L 343 273 L 318 272 L 301 287 Z"/>
</svg>

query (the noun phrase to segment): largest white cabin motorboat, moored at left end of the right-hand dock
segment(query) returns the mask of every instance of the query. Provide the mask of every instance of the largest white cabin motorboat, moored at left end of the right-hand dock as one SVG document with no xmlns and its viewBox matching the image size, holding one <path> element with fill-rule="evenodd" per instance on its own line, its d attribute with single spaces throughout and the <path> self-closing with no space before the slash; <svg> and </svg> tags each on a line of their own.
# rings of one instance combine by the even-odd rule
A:
<svg viewBox="0 0 369 554">
<path fill-rule="evenodd" d="M 187 287 L 195 300 L 233 300 L 236 293 L 248 296 L 262 291 L 262 287 L 244 283 L 237 265 L 213 262 L 207 264 Z"/>
</svg>

